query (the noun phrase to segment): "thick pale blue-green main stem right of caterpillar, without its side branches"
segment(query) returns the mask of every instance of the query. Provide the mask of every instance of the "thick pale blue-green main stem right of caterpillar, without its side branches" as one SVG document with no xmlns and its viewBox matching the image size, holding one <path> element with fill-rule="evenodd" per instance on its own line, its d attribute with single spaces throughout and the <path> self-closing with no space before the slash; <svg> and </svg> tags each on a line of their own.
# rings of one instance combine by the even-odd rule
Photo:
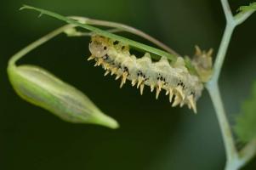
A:
<svg viewBox="0 0 256 170">
<path fill-rule="evenodd" d="M 227 24 L 225 27 L 224 35 L 220 42 L 219 51 L 215 59 L 215 63 L 213 66 L 213 77 L 207 83 L 207 89 L 213 101 L 213 106 L 217 114 L 219 127 L 220 127 L 222 138 L 225 144 L 225 154 L 227 157 L 226 167 L 229 167 L 230 162 L 234 158 L 235 159 L 237 158 L 237 151 L 236 151 L 234 139 L 232 137 L 230 123 L 227 120 L 224 105 L 220 97 L 218 81 L 219 81 L 219 74 L 225 60 L 225 54 L 227 52 L 227 48 L 229 46 L 232 32 L 234 31 L 235 26 L 232 22 L 233 19 L 231 18 L 232 14 L 230 12 L 230 6 L 228 2 L 225 0 L 221 0 L 221 3 L 225 11 Z"/>
</svg>

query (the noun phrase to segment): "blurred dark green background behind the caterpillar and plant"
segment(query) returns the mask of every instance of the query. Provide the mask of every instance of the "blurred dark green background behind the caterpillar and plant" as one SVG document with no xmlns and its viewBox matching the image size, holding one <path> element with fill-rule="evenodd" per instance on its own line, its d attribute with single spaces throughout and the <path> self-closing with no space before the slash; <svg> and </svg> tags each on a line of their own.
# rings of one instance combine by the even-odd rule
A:
<svg viewBox="0 0 256 170">
<path fill-rule="evenodd" d="M 117 130 L 63 122 L 14 94 L 6 74 L 11 55 L 64 23 L 22 4 L 65 15 L 112 20 L 137 27 L 177 50 L 193 54 L 194 45 L 219 47 L 225 18 L 216 0 L 9 0 L 1 1 L 0 22 L 0 169 L 1 170 L 216 170 L 225 152 L 213 106 L 204 91 L 198 114 L 172 108 L 146 88 L 140 96 L 94 68 L 88 37 L 54 38 L 22 59 L 40 65 L 81 89 L 121 124 Z M 230 1 L 233 11 L 249 1 Z M 230 122 L 255 80 L 256 14 L 234 32 L 220 79 Z M 125 34 L 127 35 L 127 34 Z M 133 37 L 134 38 L 134 37 Z M 136 39 L 137 38 L 137 39 Z M 141 41 L 138 37 L 135 40 Z M 255 169 L 256 159 L 243 168 Z"/>
</svg>

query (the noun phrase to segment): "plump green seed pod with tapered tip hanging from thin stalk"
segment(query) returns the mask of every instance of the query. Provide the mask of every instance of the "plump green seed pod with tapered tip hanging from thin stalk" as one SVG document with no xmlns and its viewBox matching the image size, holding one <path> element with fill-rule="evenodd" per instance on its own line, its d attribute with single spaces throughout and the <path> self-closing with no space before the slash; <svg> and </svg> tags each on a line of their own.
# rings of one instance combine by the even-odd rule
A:
<svg viewBox="0 0 256 170">
<path fill-rule="evenodd" d="M 100 111 L 85 94 L 40 67 L 9 65 L 8 74 L 14 90 L 22 99 L 67 122 L 118 127 L 118 123 Z"/>
</svg>

